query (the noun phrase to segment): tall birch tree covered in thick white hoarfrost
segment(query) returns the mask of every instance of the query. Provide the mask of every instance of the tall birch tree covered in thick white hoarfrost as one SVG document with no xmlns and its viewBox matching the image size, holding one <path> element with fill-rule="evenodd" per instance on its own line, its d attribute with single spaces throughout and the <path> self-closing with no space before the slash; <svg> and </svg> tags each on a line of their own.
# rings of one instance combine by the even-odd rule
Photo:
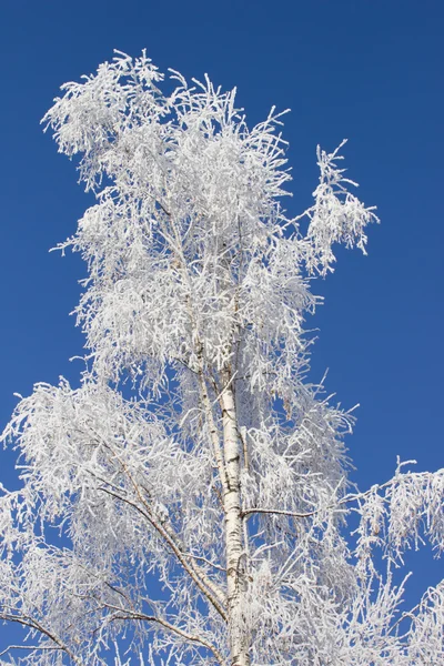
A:
<svg viewBox="0 0 444 666">
<path fill-rule="evenodd" d="M 306 379 L 314 279 L 375 214 L 319 149 L 291 219 L 282 113 L 250 129 L 234 93 L 118 53 L 44 117 L 97 198 L 60 245 L 88 351 L 2 436 L 1 664 L 444 664 L 444 584 L 406 612 L 395 576 L 444 547 L 444 472 L 356 490 L 353 416 Z"/>
</svg>

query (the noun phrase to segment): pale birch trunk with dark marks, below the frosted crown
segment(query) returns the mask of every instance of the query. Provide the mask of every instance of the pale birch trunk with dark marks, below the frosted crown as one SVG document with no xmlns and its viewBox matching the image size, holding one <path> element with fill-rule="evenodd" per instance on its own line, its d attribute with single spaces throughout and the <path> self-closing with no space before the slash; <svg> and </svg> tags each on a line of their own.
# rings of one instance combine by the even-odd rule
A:
<svg viewBox="0 0 444 666">
<path fill-rule="evenodd" d="M 225 377 L 226 379 L 226 377 Z M 229 380 L 228 380 L 229 381 Z M 228 381 L 225 385 L 228 384 Z M 240 442 L 233 390 L 222 394 L 223 446 L 228 488 L 225 511 L 226 583 L 231 666 L 250 666 L 249 637 L 244 618 L 245 576 L 242 535 Z"/>
</svg>

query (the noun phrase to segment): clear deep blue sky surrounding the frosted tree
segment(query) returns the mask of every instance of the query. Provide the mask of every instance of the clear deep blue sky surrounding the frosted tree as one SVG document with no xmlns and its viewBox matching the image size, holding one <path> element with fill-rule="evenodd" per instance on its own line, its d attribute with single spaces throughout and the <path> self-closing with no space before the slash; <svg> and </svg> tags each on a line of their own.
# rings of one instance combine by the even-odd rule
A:
<svg viewBox="0 0 444 666">
<path fill-rule="evenodd" d="M 329 390 L 362 405 L 347 442 L 362 487 L 386 480 L 396 454 L 442 467 L 443 36 L 442 0 L 2 0 L 0 427 L 14 391 L 75 377 L 69 357 L 82 353 L 68 313 L 84 268 L 48 249 L 91 199 L 39 120 L 61 83 L 113 49 L 147 48 L 161 69 L 238 85 L 251 123 L 272 104 L 292 109 L 294 212 L 310 204 L 316 143 L 350 140 L 350 176 L 382 224 L 370 229 L 367 258 L 341 251 L 316 284 L 326 301 L 310 322 L 320 327 L 314 373 L 330 367 Z M 0 455 L 12 478 L 13 456 Z M 425 551 L 412 563 L 413 599 L 444 563 Z"/>
</svg>

